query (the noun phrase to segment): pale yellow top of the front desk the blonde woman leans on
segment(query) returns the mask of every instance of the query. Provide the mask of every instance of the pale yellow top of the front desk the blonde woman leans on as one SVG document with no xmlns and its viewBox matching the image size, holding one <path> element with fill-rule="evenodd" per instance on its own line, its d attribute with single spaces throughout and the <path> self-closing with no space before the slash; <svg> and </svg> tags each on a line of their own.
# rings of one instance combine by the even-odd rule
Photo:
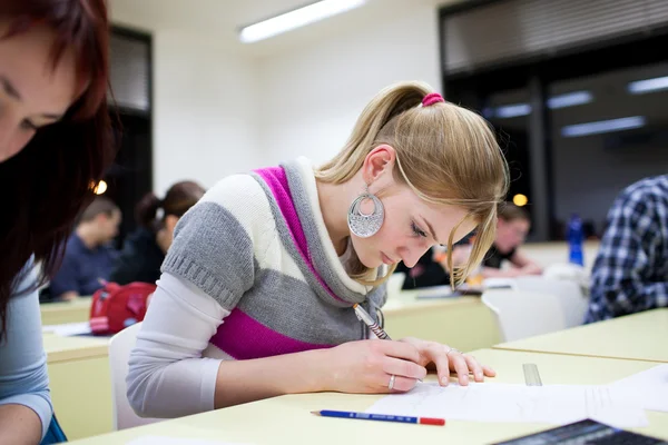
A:
<svg viewBox="0 0 668 445">
<path fill-rule="evenodd" d="M 523 384 L 523 363 L 537 364 L 544 384 L 606 384 L 656 365 L 639 360 L 480 349 L 473 353 L 493 366 L 500 383 Z M 171 436 L 238 443 L 452 443 L 480 444 L 547 429 L 552 425 L 449 421 L 445 427 L 321 418 L 316 409 L 364 411 L 379 396 L 334 393 L 304 394 L 218 409 L 180 419 L 125 429 L 75 442 L 79 445 L 125 444 L 140 436 Z M 668 438 L 668 413 L 647 413 L 650 425 L 640 433 Z M 286 427 L 288 426 L 288 427 Z"/>
</svg>

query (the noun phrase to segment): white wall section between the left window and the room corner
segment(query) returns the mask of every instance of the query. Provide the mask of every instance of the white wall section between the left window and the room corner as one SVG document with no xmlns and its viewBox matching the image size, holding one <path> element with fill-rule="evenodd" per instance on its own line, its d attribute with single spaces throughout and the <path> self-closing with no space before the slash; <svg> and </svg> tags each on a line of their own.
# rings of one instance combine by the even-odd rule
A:
<svg viewBox="0 0 668 445">
<path fill-rule="evenodd" d="M 154 188 L 205 187 L 255 167 L 257 79 L 250 60 L 206 36 L 154 33 Z"/>
</svg>

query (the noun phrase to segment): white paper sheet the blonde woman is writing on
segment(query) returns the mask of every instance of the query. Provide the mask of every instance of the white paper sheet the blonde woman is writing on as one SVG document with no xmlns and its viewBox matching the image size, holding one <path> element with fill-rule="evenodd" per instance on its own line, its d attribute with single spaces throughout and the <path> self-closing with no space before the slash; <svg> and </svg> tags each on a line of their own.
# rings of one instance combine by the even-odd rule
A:
<svg viewBox="0 0 668 445">
<path fill-rule="evenodd" d="M 593 385 L 419 384 L 407 394 L 381 398 L 367 413 L 478 422 L 566 424 L 595 418 L 618 427 L 648 424 L 645 411 L 626 393 Z"/>
</svg>

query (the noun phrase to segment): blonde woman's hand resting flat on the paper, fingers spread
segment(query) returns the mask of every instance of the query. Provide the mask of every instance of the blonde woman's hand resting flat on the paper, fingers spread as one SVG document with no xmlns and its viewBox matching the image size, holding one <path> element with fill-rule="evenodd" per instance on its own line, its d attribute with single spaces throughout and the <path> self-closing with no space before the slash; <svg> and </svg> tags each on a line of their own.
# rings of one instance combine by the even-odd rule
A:
<svg viewBox="0 0 668 445">
<path fill-rule="evenodd" d="M 442 386 L 450 382 L 450 372 L 458 374 L 460 385 L 469 384 L 469 374 L 473 374 L 475 382 L 483 382 L 484 377 L 497 375 L 494 369 L 478 363 L 475 357 L 469 354 L 462 354 L 460 350 L 451 348 L 435 342 L 425 342 L 419 338 L 403 338 L 401 343 L 412 345 L 418 350 L 420 357 L 414 360 L 420 366 L 435 365 L 439 383 Z"/>
</svg>

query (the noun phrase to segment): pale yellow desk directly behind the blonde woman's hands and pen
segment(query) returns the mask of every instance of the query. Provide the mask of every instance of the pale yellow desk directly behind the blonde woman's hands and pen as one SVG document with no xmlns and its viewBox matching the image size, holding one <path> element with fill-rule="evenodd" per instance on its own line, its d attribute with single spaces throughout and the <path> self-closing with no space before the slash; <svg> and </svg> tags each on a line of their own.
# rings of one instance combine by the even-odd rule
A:
<svg viewBox="0 0 668 445">
<path fill-rule="evenodd" d="M 383 308 L 385 329 L 392 338 L 418 337 L 440 342 L 460 350 L 492 347 L 501 335 L 492 312 L 480 297 L 419 299 L 448 288 L 404 290 Z"/>
</svg>

